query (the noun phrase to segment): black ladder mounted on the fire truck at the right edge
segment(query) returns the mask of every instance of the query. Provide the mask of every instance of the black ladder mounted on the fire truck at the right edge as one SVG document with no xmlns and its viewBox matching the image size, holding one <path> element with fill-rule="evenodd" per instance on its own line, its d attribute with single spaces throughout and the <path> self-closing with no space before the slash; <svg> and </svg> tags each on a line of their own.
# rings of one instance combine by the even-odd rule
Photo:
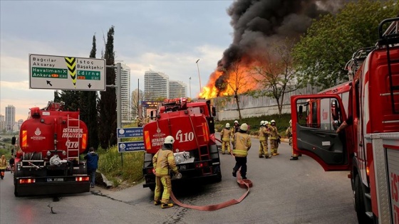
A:
<svg viewBox="0 0 399 224">
<path fill-rule="evenodd" d="M 383 25 L 385 23 L 390 23 L 388 29 L 383 33 Z M 399 17 L 397 18 L 387 18 L 380 23 L 378 26 L 378 46 L 385 46 L 387 52 L 387 60 L 388 60 L 388 77 L 390 83 L 390 102 L 392 104 L 392 112 L 393 114 L 399 114 L 399 108 L 395 107 L 394 95 L 399 95 L 399 85 L 393 85 L 392 78 L 392 64 L 399 63 L 399 58 L 390 58 L 390 45 L 394 46 L 399 43 Z"/>
</svg>

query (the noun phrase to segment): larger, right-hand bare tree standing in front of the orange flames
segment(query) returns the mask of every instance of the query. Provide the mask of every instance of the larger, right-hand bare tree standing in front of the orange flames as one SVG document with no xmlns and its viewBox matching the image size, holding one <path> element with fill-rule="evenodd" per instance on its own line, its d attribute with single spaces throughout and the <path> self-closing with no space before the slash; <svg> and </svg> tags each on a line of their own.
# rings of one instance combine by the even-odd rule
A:
<svg viewBox="0 0 399 224">
<path fill-rule="evenodd" d="M 265 53 L 265 65 L 254 68 L 254 80 L 264 86 L 264 90 L 252 92 L 254 96 L 266 95 L 277 102 L 279 116 L 283 109 L 284 95 L 298 89 L 296 70 L 293 65 L 291 49 L 294 42 L 288 38 L 281 44 L 271 47 Z"/>
</svg>

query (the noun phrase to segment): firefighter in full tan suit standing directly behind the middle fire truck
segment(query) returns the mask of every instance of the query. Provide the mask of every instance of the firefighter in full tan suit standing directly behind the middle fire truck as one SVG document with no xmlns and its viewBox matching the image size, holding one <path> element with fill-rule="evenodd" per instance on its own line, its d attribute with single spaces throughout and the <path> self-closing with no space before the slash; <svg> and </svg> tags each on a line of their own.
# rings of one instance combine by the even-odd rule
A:
<svg viewBox="0 0 399 224">
<path fill-rule="evenodd" d="M 170 182 L 169 169 L 176 175 L 179 174 L 175 164 L 175 156 L 173 156 L 173 143 L 175 139 L 171 136 L 165 138 L 162 149 L 152 157 L 152 165 L 155 171 L 155 206 L 161 204 L 161 208 L 173 207 L 173 203 L 169 203 L 170 192 L 172 191 L 172 184 Z M 160 200 L 161 188 L 163 187 L 162 199 Z"/>
</svg>

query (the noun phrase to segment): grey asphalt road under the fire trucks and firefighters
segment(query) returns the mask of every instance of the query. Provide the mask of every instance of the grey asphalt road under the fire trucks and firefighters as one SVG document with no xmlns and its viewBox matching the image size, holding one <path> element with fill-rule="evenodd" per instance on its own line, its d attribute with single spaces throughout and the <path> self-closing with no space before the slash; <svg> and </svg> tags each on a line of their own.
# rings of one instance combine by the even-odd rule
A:
<svg viewBox="0 0 399 224">
<path fill-rule="evenodd" d="M 14 197 L 12 174 L 0 180 L 0 223 L 357 223 L 347 172 L 325 172 L 308 156 L 289 161 L 283 142 L 279 156 L 259 159 L 253 139 L 247 177 L 254 186 L 241 203 L 211 212 L 175 206 L 162 209 L 142 183 L 123 191 L 96 186 L 90 193 L 60 198 Z M 232 176 L 234 159 L 220 155 L 222 181 L 174 186 L 183 203 L 211 205 L 245 192 Z M 189 189 L 189 191 L 187 191 Z"/>
</svg>

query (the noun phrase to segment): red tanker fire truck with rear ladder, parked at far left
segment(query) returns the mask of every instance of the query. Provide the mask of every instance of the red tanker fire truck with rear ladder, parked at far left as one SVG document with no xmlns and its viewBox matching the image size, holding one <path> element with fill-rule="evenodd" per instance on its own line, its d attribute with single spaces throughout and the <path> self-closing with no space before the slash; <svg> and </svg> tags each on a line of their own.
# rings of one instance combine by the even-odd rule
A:
<svg viewBox="0 0 399 224">
<path fill-rule="evenodd" d="M 19 131 L 14 171 L 15 196 L 90 191 L 86 161 L 88 130 L 79 112 L 63 111 L 63 102 L 31 108 Z M 15 144 L 16 138 L 13 138 Z"/>
</svg>

